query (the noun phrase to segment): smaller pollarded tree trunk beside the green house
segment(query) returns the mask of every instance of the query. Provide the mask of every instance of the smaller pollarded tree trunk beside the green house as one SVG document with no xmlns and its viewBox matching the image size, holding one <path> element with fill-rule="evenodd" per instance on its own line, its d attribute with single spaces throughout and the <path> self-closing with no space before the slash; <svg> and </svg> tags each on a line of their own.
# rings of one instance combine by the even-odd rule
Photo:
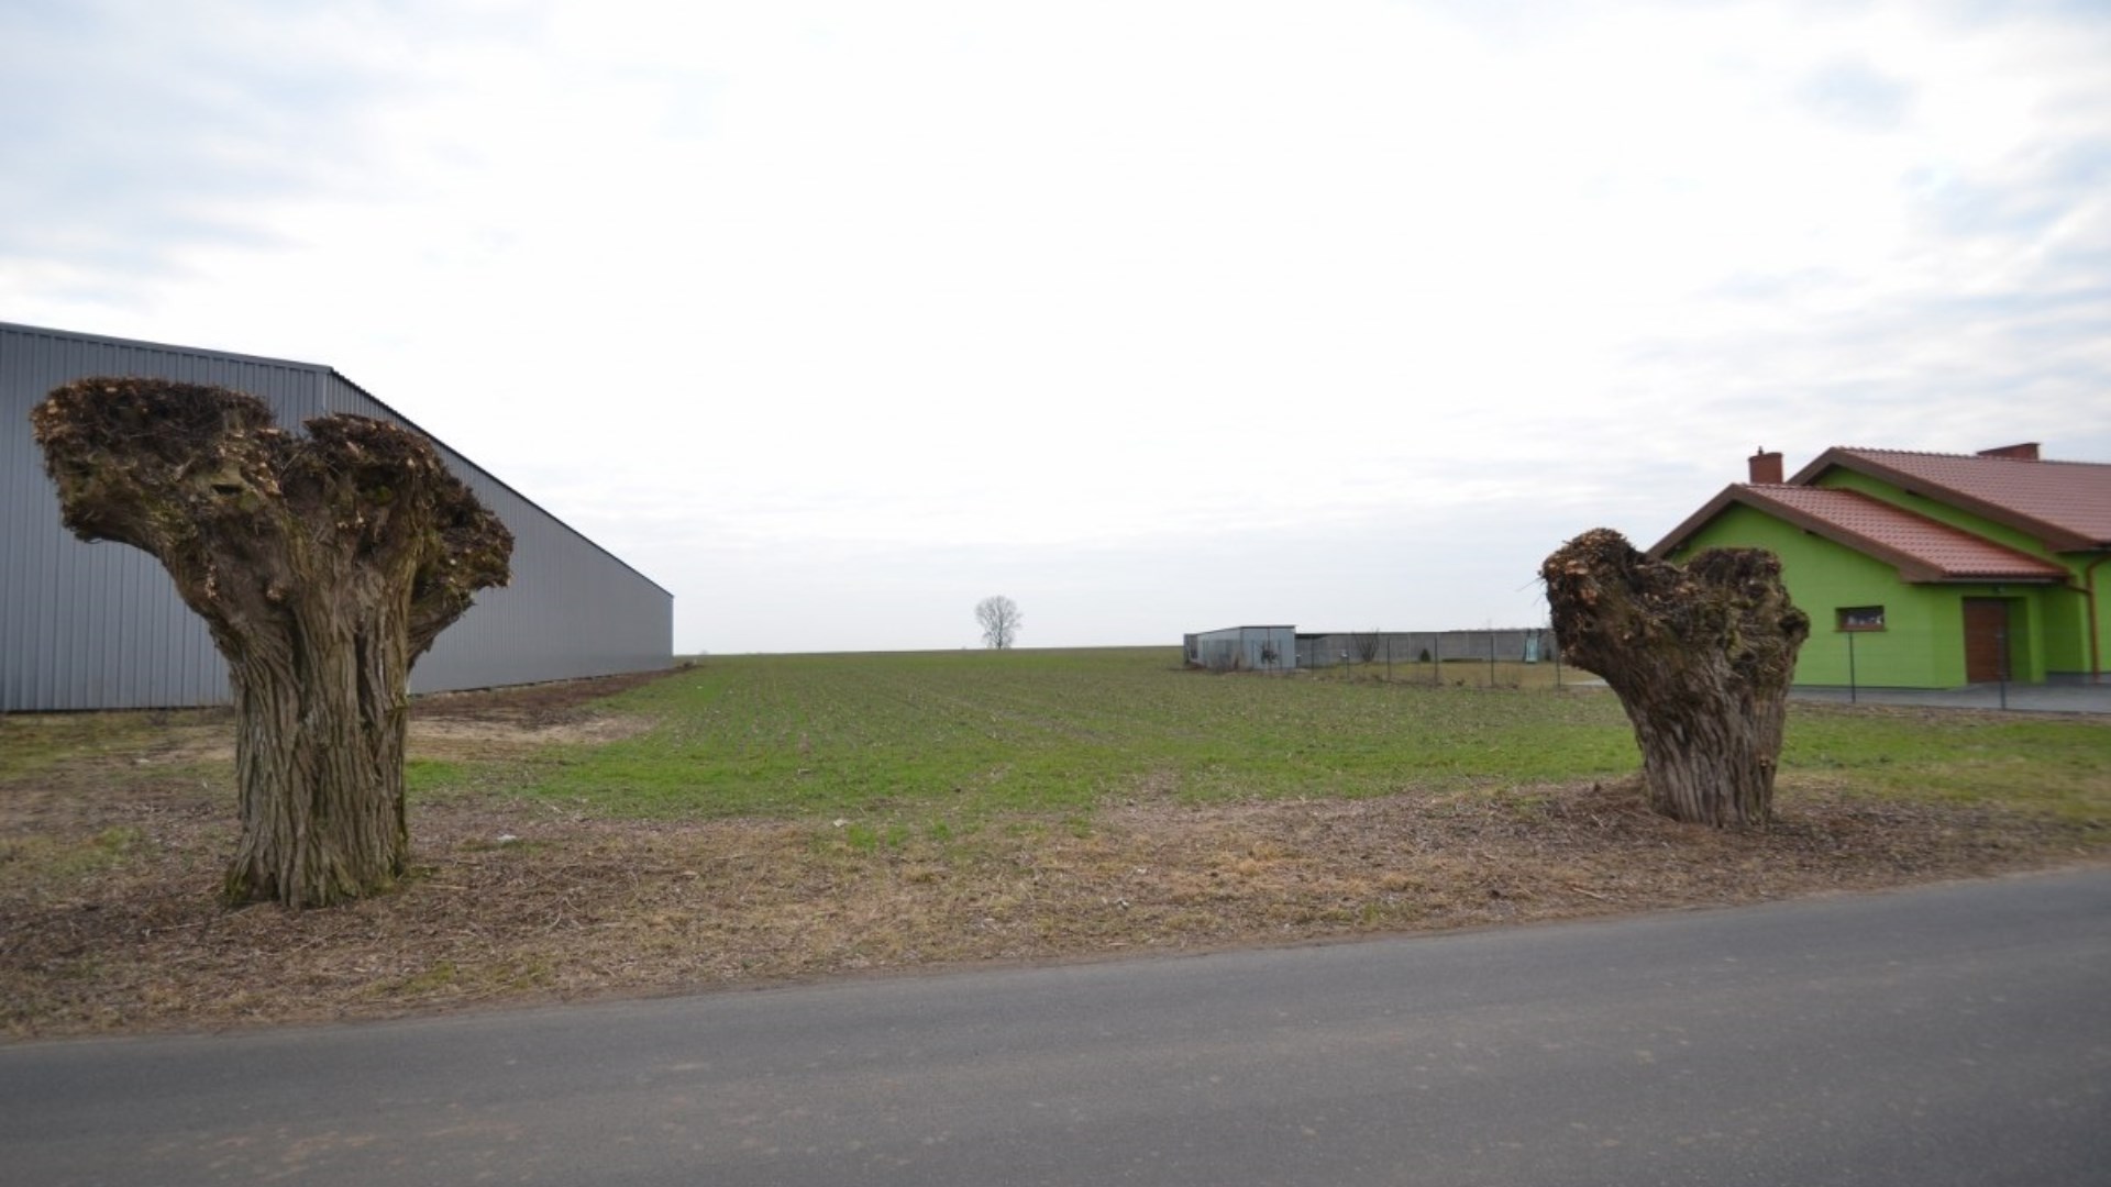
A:
<svg viewBox="0 0 2111 1187">
<path fill-rule="evenodd" d="M 1649 560 L 1583 532 L 1541 564 L 1562 655 L 1604 676 L 1634 722 L 1651 807 L 1716 828 L 1765 824 L 1809 617 L 1765 549 Z"/>
</svg>

